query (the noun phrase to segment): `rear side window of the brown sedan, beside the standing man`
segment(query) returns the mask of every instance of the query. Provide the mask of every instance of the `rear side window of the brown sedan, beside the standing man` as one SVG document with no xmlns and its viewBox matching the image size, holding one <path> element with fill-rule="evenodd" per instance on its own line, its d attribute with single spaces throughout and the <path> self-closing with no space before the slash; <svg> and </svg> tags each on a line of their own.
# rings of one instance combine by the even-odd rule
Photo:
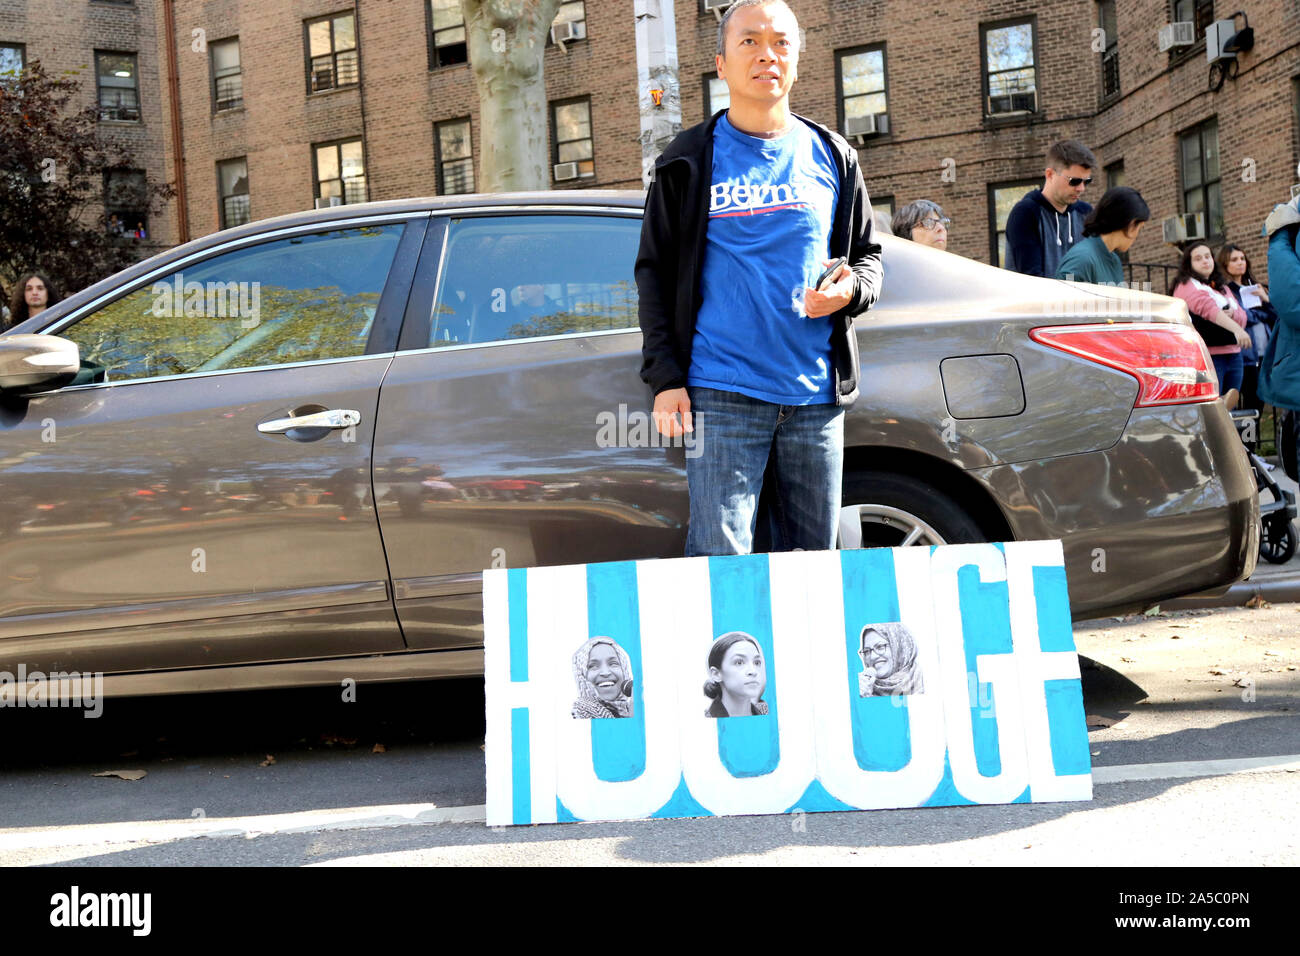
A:
<svg viewBox="0 0 1300 956">
<path fill-rule="evenodd" d="M 640 239 L 632 217 L 451 220 L 429 345 L 637 328 Z"/>
</svg>

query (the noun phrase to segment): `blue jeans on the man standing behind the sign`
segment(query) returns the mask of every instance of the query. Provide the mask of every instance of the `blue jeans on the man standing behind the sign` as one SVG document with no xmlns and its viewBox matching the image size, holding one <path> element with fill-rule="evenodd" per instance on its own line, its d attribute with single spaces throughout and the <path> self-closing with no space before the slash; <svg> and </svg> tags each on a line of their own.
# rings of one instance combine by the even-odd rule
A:
<svg viewBox="0 0 1300 956">
<path fill-rule="evenodd" d="M 686 555 L 750 554 L 764 472 L 774 550 L 829 550 L 844 480 L 844 408 L 688 388 L 701 454 L 686 457 Z"/>
</svg>

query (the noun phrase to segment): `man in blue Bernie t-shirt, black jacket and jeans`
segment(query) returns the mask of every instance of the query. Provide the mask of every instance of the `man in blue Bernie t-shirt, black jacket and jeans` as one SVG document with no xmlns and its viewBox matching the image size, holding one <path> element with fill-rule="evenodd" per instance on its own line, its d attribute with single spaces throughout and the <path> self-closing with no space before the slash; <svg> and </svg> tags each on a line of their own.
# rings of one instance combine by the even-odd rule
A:
<svg viewBox="0 0 1300 956">
<path fill-rule="evenodd" d="M 753 549 L 764 475 L 774 544 L 831 549 L 857 397 L 853 316 L 880 294 L 871 203 L 857 153 L 789 109 L 790 9 L 738 0 L 718 36 L 731 107 L 664 150 L 646 196 L 641 375 L 659 431 L 697 432 L 688 555 Z M 819 285 L 838 256 L 848 264 Z"/>
</svg>

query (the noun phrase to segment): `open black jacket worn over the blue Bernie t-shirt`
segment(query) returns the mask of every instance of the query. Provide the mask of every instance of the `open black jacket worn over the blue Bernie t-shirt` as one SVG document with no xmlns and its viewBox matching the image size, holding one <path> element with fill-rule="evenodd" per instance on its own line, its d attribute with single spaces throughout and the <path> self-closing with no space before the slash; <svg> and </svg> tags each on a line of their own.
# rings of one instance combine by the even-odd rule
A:
<svg viewBox="0 0 1300 956">
<path fill-rule="evenodd" d="M 722 111 L 682 130 L 655 161 L 646 195 L 637 252 L 642 363 L 641 377 L 654 394 L 684 388 L 690 369 L 696 316 L 703 297 L 699 276 L 708 228 L 708 186 L 714 169 L 714 125 Z M 826 126 L 796 116 L 816 130 L 840 173 L 840 199 L 831 225 L 831 258 L 848 256 L 857 277 L 853 300 L 829 316 L 835 324 L 836 405 L 858 397 L 858 338 L 853 316 L 880 298 L 880 245 L 872 235 L 871 200 L 862 182 L 858 153 Z"/>
</svg>

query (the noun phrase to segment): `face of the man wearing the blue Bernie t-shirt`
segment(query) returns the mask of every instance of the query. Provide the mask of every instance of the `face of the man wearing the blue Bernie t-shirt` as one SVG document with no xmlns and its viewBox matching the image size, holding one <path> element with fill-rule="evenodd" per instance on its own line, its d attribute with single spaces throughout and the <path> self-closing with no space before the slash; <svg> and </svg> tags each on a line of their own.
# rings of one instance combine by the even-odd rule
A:
<svg viewBox="0 0 1300 956">
<path fill-rule="evenodd" d="M 718 75 L 727 82 L 732 103 L 777 103 L 790 95 L 798 78 L 800 27 L 780 4 L 746 7 L 727 23 L 725 56 Z"/>
</svg>

